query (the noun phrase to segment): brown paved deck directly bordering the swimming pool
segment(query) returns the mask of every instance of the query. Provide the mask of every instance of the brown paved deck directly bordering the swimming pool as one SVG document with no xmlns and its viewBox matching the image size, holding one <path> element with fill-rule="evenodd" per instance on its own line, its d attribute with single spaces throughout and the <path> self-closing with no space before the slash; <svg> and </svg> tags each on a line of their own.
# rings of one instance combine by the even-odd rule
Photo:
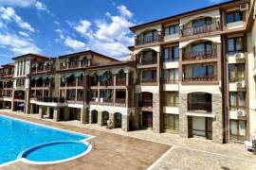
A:
<svg viewBox="0 0 256 170">
<path fill-rule="evenodd" d="M 162 154 L 170 149 L 170 147 L 172 147 L 167 144 L 157 144 L 145 140 L 121 136 L 118 134 L 106 133 L 93 129 L 85 129 L 82 127 L 71 127 L 44 120 L 37 120 L 22 115 L 19 116 L 17 114 L 2 112 L 1 114 L 44 124 L 46 126 L 60 127 L 63 129 L 95 136 L 95 138 L 89 140 L 95 144 L 95 147 L 85 156 L 73 161 L 49 165 L 32 165 L 22 161 L 17 161 L 1 167 L 1 169 L 146 169 L 152 163 L 154 163 L 154 161 L 160 158 Z"/>
</svg>

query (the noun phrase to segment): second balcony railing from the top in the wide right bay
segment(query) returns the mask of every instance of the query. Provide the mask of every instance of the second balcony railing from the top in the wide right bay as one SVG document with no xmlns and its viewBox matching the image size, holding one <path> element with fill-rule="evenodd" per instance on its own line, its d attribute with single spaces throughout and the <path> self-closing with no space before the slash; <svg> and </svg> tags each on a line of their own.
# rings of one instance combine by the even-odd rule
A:
<svg viewBox="0 0 256 170">
<path fill-rule="evenodd" d="M 201 52 L 184 52 L 182 54 L 182 60 L 196 60 L 196 59 L 215 59 L 216 49 Z"/>
</svg>

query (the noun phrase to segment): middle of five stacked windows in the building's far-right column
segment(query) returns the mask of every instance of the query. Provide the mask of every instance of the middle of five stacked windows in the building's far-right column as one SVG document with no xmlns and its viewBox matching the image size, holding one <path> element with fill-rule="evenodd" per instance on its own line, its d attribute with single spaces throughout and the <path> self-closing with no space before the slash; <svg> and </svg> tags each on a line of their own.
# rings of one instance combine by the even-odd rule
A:
<svg viewBox="0 0 256 170">
<path fill-rule="evenodd" d="M 243 80 L 245 77 L 245 64 L 229 64 L 229 81 Z"/>
</svg>

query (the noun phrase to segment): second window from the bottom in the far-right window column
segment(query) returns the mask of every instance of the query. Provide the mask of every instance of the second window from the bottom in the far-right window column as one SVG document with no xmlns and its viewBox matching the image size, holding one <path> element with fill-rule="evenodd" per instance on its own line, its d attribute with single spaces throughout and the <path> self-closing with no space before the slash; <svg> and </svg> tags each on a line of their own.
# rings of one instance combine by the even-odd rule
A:
<svg viewBox="0 0 256 170">
<path fill-rule="evenodd" d="M 246 93 L 230 92 L 229 93 L 230 110 L 245 110 L 246 108 Z"/>
</svg>

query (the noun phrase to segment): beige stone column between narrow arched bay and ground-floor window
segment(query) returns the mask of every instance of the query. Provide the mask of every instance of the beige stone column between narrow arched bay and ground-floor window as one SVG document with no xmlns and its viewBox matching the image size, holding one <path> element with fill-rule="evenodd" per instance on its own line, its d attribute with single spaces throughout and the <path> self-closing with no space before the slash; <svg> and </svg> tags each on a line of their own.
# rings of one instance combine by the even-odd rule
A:
<svg viewBox="0 0 256 170">
<path fill-rule="evenodd" d="M 159 133 L 160 129 L 160 102 L 159 93 L 153 93 L 153 131 Z"/>
</svg>

